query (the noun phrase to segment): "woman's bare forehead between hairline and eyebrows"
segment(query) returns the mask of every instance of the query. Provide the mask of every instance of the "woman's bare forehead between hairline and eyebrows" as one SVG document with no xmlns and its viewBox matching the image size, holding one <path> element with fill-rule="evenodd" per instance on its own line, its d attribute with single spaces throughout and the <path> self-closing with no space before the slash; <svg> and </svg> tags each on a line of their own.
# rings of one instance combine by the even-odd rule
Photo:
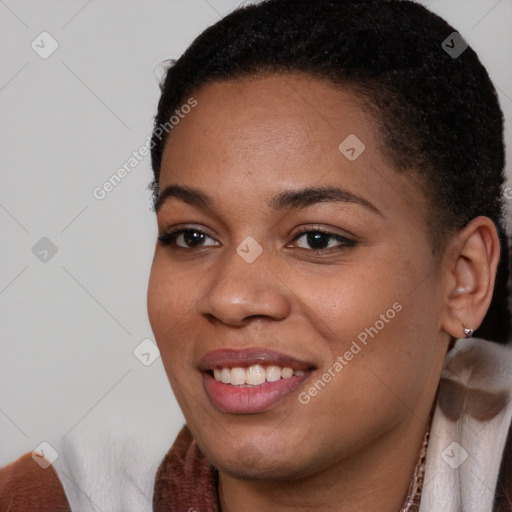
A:
<svg viewBox="0 0 512 512">
<path fill-rule="evenodd" d="M 190 184 L 219 200 L 254 201 L 283 188 L 341 185 L 379 209 L 421 210 L 423 194 L 384 157 L 374 118 L 349 90 L 285 74 L 213 83 L 193 96 L 197 106 L 168 137 L 160 190 Z"/>
</svg>

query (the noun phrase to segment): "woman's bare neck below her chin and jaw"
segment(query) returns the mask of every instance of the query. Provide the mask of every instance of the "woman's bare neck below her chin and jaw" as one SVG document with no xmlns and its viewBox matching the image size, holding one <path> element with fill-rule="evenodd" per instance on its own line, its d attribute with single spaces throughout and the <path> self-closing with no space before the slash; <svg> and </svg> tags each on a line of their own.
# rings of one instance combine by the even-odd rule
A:
<svg viewBox="0 0 512 512">
<path fill-rule="evenodd" d="M 219 474 L 222 512 L 399 512 L 423 443 L 427 419 L 386 432 L 364 450 L 305 478 L 239 480 Z"/>
</svg>

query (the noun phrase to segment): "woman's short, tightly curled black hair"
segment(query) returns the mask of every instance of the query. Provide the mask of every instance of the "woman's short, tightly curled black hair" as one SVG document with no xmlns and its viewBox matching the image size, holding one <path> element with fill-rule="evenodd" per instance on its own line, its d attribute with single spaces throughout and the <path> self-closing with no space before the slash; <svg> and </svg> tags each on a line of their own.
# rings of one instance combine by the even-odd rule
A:
<svg viewBox="0 0 512 512">
<path fill-rule="evenodd" d="M 454 34 L 455 33 L 455 34 Z M 373 114 L 382 153 L 419 178 L 430 200 L 433 250 L 484 215 L 502 257 L 491 308 L 476 335 L 508 340 L 503 114 L 476 53 L 446 21 L 409 0 L 264 0 L 206 29 L 168 69 L 151 158 L 159 193 L 168 123 L 212 82 L 303 72 L 354 92 Z M 457 45 L 460 55 L 450 52 Z"/>
</svg>

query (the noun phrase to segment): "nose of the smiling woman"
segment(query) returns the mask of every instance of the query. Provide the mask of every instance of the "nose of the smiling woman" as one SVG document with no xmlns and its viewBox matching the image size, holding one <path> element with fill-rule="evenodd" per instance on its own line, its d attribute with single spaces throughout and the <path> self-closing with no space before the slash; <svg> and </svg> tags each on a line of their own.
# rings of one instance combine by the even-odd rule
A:
<svg viewBox="0 0 512 512">
<path fill-rule="evenodd" d="M 201 313 L 224 324 L 242 326 L 251 318 L 282 320 L 291 311 L 290 289 L 262 253 L 248 263 L 234 249 L 216 272 L 199 303 Z"/>
</svg>

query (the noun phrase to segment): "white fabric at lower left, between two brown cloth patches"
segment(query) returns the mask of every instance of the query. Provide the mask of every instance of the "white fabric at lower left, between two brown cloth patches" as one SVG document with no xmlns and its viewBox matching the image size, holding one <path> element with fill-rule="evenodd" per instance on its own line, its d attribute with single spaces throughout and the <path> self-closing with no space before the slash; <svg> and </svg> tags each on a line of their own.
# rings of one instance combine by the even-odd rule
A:
<svg viewBox="0 0 512 512">
<path fill-rule="evenodd" d="M 170 444 L 148 442 L 143 429 L 112 418 L 62 441 L 53 466 L 73 512 L 152 511 L 156 471 Z"/>
</svg>

